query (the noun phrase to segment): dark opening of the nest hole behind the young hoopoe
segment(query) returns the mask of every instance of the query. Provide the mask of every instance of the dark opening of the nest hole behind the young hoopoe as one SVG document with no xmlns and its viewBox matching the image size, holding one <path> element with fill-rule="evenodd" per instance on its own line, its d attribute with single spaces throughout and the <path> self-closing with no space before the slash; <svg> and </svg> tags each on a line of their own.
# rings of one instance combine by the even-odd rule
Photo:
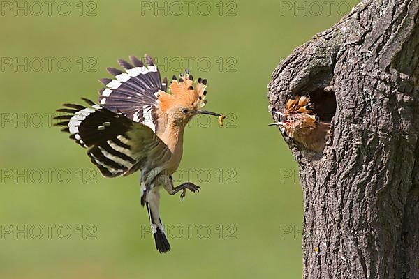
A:
<svg viewBox="0 0 419 279">
<path fill-rule="evenodd" d="M 309 92 L 313 112 L 320 121 L 330 123 L 336 112 L 336 96 L 332 87 L 328 86 Z"/>
</svg>

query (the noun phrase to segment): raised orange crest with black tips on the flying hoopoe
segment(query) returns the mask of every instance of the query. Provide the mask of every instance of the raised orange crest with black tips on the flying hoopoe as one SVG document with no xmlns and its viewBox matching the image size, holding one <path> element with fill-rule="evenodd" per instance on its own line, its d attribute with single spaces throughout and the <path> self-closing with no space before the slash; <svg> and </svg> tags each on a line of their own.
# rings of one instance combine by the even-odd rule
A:
<svg viewBox="0 0 419 279">
<path fill-rule="evenodd" d="M 172 77 L 168 93 L 159 91 L 157 94 L 159 107 L 163 112 L 173 105 L 195 107 L 196 110 L 205 105 L 207 80 L 198 78 L 198 80 L 193 81 L 192 75 L 189 75 L 189 70 L 186 69 L 185 72 L 186 75 L 179 74 L 179 81 L 175 75 Z"/>
</svg>

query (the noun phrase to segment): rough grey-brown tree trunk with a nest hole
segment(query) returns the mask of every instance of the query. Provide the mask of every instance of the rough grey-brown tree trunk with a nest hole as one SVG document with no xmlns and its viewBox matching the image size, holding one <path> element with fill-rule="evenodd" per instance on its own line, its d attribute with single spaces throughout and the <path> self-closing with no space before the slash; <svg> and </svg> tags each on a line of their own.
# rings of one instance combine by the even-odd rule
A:
<svg viewBox="0 0 419 279">
<path fill-rule="evenodd" d="M 304 278 L 419 278 L 419 1 L 366 0 L 279 63 L 270 109 L 308 93 L 322 154 L 304 189 Z M 273 116 L 277 121 L 277 116 Z"/>
</svg>

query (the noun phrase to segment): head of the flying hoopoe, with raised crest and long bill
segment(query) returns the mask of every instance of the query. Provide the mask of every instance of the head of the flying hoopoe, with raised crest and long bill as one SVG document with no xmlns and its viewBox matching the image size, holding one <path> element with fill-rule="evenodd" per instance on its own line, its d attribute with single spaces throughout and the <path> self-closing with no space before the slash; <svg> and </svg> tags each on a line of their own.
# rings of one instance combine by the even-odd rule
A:
<svg viewBox="0 0 419 279">
<path fill-rule="evenodd" d="M 189 70 L 186 70 L 186 75 L 181 73 L 179 80 L 174 75 L 170 81 L 169 92 L 157 93 L 161 114 L 167 117 L 168 122 L 179 126 L 186 125 L 196 114 L 224 117 L 222 114 L 202 109 L 207 103 L 206 88 L 207 80 L 198 78 L 194 81 L 192 75 L 189 75 Z"/>
</svg>

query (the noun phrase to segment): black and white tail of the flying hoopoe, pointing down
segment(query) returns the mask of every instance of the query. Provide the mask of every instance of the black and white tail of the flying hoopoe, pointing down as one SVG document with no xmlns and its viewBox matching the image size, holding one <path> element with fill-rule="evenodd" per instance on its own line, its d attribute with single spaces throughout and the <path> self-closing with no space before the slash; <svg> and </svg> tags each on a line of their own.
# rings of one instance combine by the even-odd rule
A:
<svg viewBox="0 0 419 279">
<path fill-rule="evenodd" d="M 161 218 L 159 216 L 160 195 L 157 191 L 157 188 L 153 188 L 147 192 L 144 191 L 142 193 L 141 203 L 147 207 L 147 211 L 149 213 L 150 224 L 152 225 L 152 234 L 154 237 L 154 242 L 156 243 L 156 249 L 161 254 L 163 254 L 170 251 L 170 244 L 164 232 L 163 224 L 161 223 Z"/>
</svg>

